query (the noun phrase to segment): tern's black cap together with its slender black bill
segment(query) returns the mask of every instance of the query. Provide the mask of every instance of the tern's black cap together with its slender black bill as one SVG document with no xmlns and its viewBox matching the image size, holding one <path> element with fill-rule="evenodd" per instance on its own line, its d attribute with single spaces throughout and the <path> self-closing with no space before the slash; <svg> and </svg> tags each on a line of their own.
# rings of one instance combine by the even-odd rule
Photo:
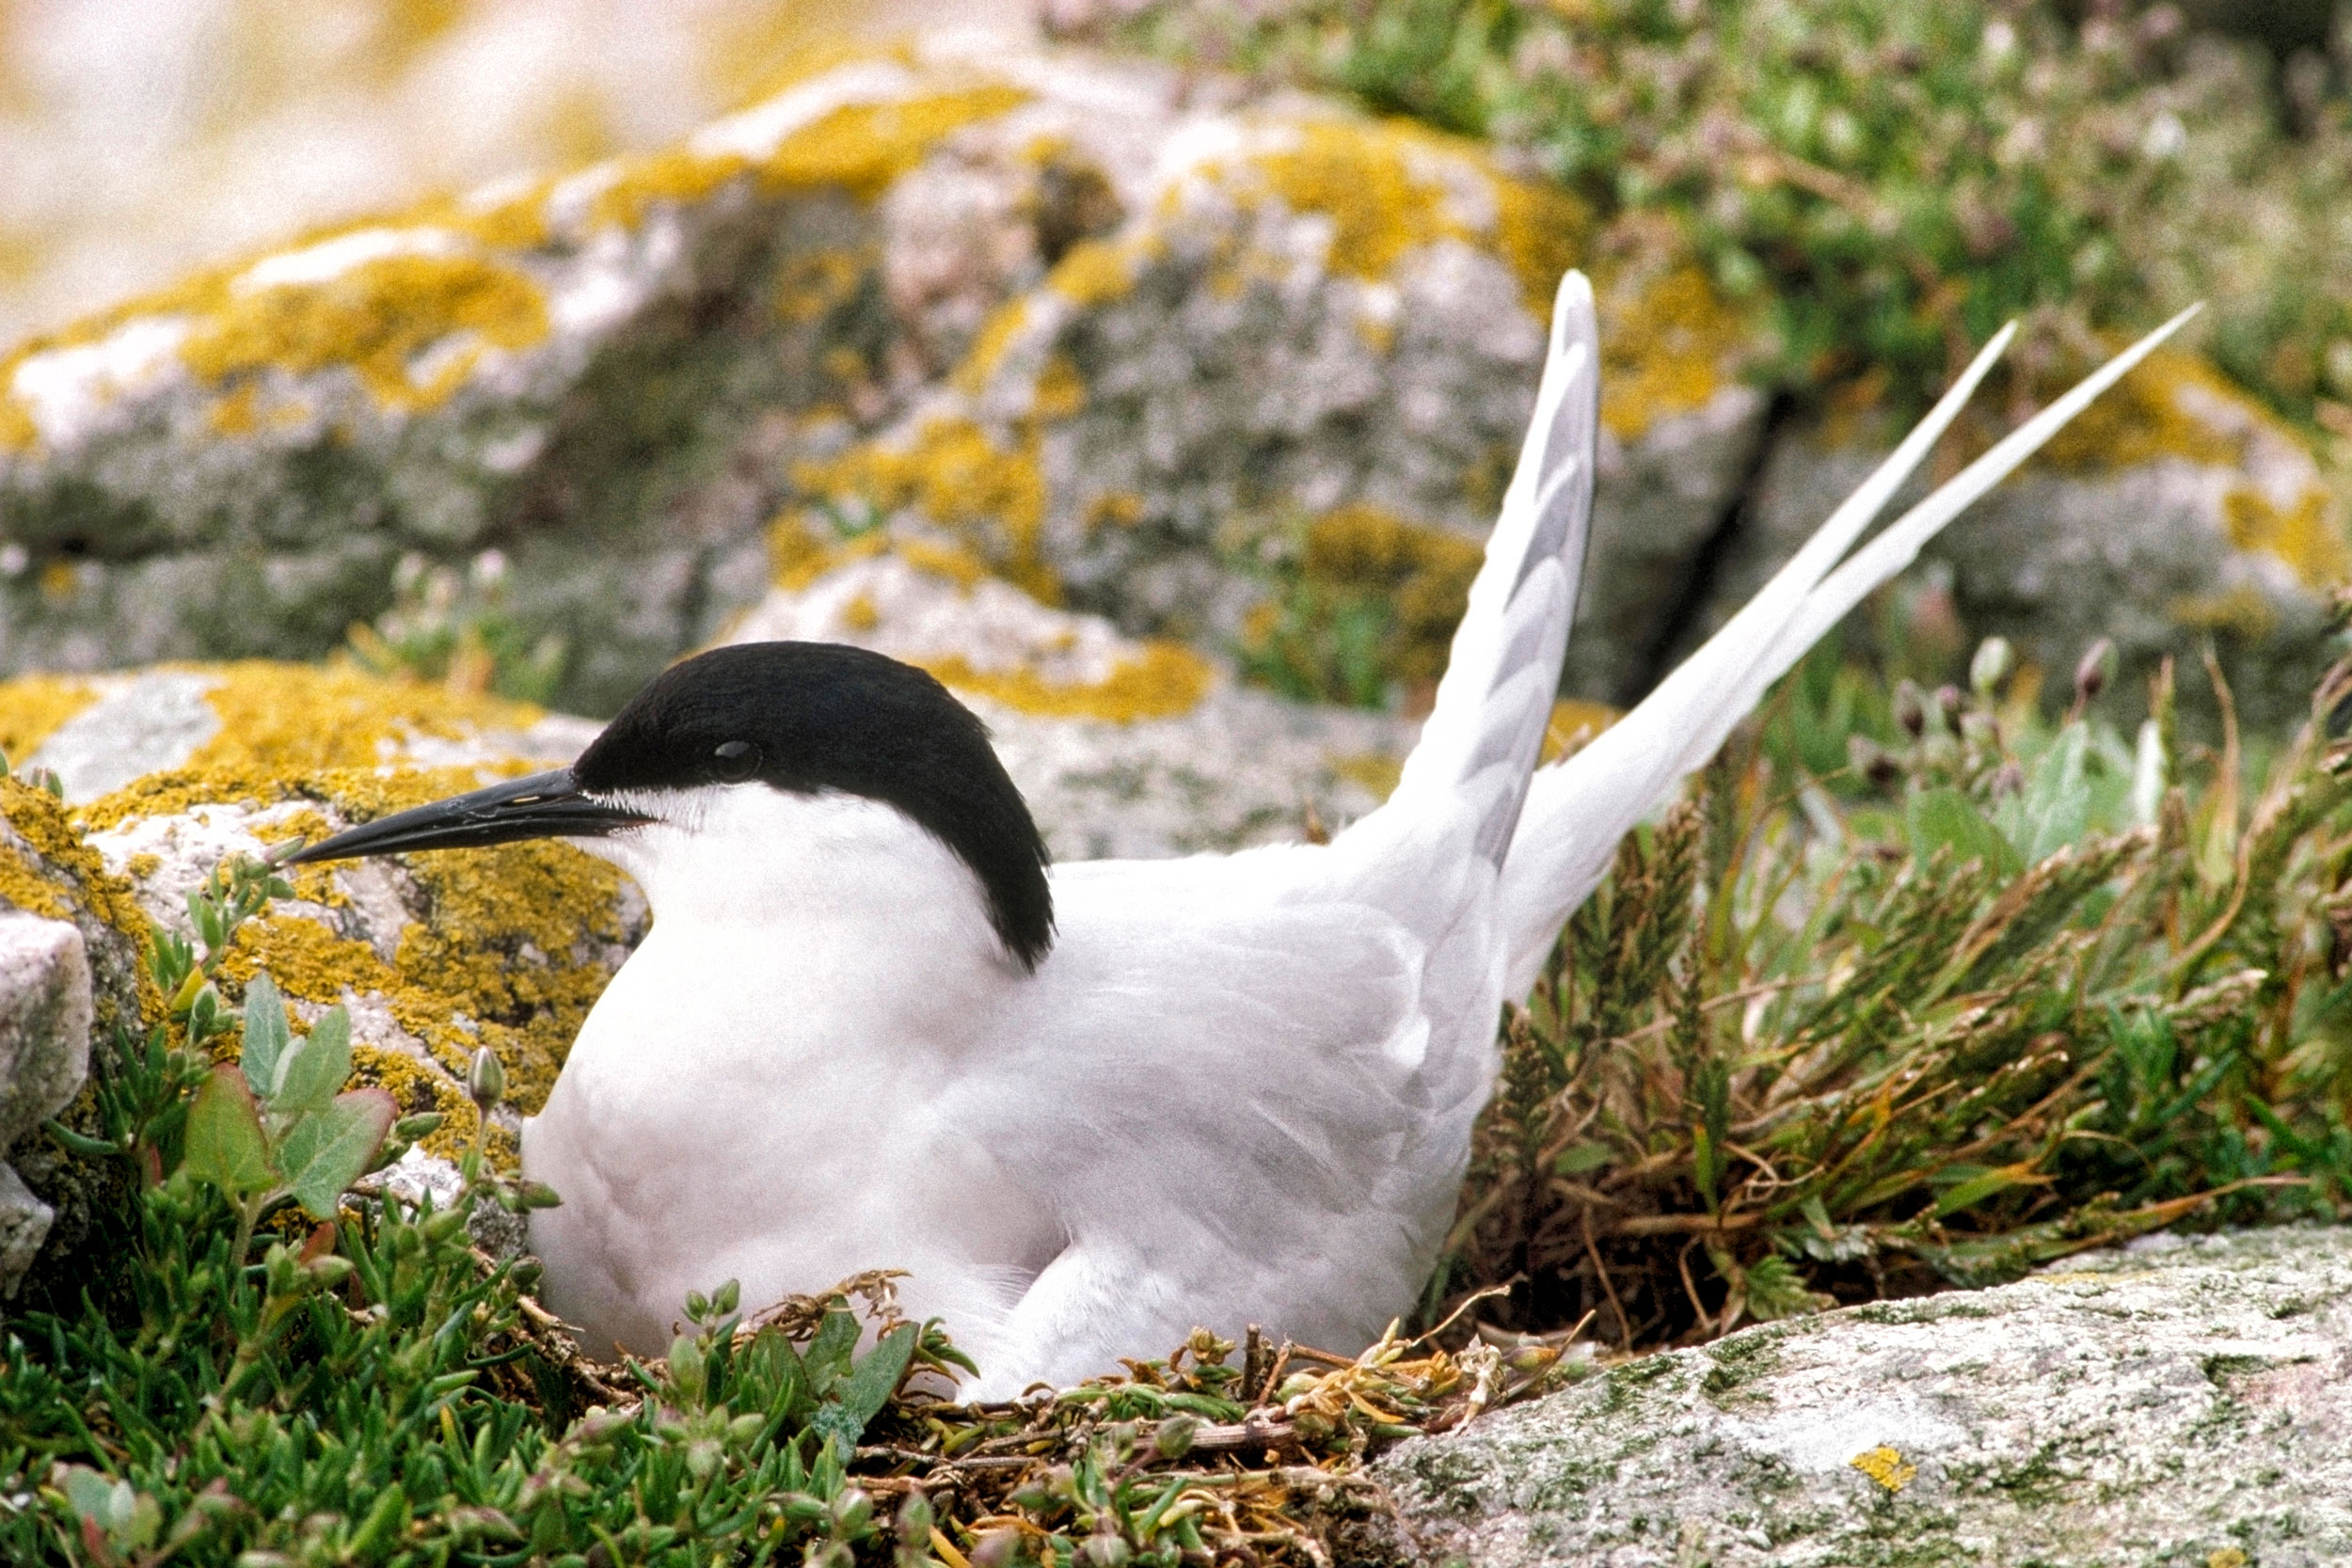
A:
<svg viewBox="0 0 2352 1568">
<path fill-rule="evenodd" d="M 764 783 L 896 806 L 978 877 L 988 922 L 1023 969 L 1054 945 L 1044 839 L 988 726 L 896 658 L 833 642 L 746 642 L 656 675 L 579 762 L 402 811 L 289 863 L 593 837 L 644 823 L 659 790 Z"/>
</svg>

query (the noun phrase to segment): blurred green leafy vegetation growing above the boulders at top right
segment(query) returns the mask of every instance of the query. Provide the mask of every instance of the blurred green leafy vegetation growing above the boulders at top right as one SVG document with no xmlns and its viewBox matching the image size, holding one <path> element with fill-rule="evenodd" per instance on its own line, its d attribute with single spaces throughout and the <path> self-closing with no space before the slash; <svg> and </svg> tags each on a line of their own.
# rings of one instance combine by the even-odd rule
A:
<svg viewBox="0 0 2352 1568">
<path fill-rule="evenodd" d="M 1595 205 L 1602 256 L 1703 256 L 1773 386 L 1924 402 L 2009 317 L 2053 381 L 2204 299 L 2232 376 L 2352 433 L 2352 106 L 2321 56 L 2274 89 L 2171 5 L 1160 0 L 1089 26 L 1519 148 Z"/>
</svg>

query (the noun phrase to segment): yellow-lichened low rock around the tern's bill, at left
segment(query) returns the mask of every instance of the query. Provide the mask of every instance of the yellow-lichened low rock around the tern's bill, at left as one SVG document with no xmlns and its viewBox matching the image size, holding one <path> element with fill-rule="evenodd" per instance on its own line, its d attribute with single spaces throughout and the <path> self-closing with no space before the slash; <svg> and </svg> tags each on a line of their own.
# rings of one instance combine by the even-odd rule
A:
<svg viewBox="0 0 2352 1568">
<path fill-rule="evenodd" d="M 419 682 L 240 663 L 7 682 L 0 738 L 40 757 L 78 733 L 52 755 L 106 778 L 153 759 L 141 752 L 143 705 L 183 712 L 191 693 L 212 722 L 179 724 L 186 755 L 162 771 L 92 799 L 59 799 L 24 773 L 0 780 L 0 910 L 73 924 L 108 1051 L 162 1018 L 141 954 L 155 931 L 195 940 L 188 893 L 226 858 L 562 762 L 595 733 Z M 301 1018 L 343 1004 L 355 1081 L 390 1088 L 407 1112 L 442 1112 L 447 1124 L 426 1145 L 440 1154 L 459 1152 L 477 1121 L 463 1093 L 470 1053 L 496 1051 L 513 1112 L 536 1110 L 647 922 L 633 884 L 567 844 L 301 867 L 292 884 L 294 898 L 238 931 L 221 990 L 235 1004 L 266 969 Z M 87 1095 L 68 1107 L 78 1119 Z M 492 1128 L 494 1152 L 510 1154 L 510 1135 L 513 1114 Z M 103 1244 L 89 1237 L 89 1213 L 96 1185 L 120 1180 L 111 1161 L 68 1157 L 42 1138 L 12 1159 L 59 1215 L 40 1267 Z"/>
</svg>

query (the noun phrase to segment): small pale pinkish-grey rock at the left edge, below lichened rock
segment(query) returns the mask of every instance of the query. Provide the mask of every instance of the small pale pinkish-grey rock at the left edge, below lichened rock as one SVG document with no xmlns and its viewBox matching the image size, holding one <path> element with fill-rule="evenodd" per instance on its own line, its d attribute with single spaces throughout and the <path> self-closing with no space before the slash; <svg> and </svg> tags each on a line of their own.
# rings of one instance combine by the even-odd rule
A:
<svg viewBox="0 0 2352 1568">
<path fill-rule="evenodd" d="M 89 1072 L 89 959 L 66 919 L 0 914 L 0 1295 L 14 1295 L 56 1211 L 5 1161 Z"/>
</svg>

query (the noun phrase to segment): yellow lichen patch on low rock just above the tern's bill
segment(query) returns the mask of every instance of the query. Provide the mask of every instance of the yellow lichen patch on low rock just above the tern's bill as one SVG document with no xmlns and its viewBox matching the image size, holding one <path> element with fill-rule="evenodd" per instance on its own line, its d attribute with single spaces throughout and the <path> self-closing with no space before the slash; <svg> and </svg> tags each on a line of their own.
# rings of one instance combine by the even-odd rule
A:
<svg viewBox="0 0 2352 1568">
<path fill-rule="evenodd" d="M 386 743 L 407 736 L 461 738 L 482 729 L 524 729 L 541 717 L 529 703 L 459 693 L 433 682 L 402 682 L 348 668 L 242 661 L 198 665 L 223 677 L 205 701 L 221 715 L 191 769 L 318 771 L 383 762 Z"/>
</svg>

